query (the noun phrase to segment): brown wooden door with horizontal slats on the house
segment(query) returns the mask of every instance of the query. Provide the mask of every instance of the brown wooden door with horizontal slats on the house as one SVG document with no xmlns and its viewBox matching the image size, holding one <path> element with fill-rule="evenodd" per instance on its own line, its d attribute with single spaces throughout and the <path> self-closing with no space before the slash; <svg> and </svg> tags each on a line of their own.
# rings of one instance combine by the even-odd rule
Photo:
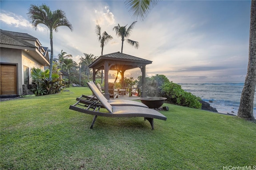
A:
<svg viewBox="0 0 256 170">
<path fill-rule="evenodd" d="M 1 92 L 0 95 L 17 94 L 17 72 L 16 65 L 1 64 L 0 66 L 0 79 L 1 79 Z"/>
</svg>

